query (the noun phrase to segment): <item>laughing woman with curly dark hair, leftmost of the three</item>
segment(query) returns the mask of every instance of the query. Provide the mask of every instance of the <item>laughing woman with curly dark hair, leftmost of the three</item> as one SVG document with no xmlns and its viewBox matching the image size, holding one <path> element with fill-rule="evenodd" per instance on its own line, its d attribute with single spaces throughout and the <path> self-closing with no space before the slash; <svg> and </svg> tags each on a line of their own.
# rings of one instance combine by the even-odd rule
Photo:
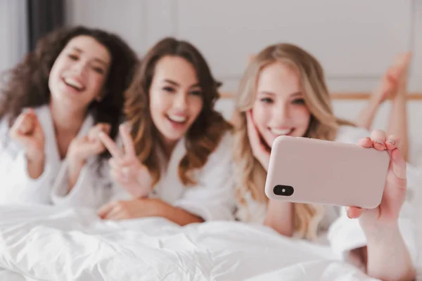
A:
<svg viewBox="0 0 422 281">
<path fill-rule="evenodd" d="M 98 133 L 116 137 L 136 63 L 115 34 L 71 27 L 40 39 L 8 72 L 0 96 L 0 204 L 108 200 L 112 191 L 100 183 L 109 155 Z"/>
</svg>

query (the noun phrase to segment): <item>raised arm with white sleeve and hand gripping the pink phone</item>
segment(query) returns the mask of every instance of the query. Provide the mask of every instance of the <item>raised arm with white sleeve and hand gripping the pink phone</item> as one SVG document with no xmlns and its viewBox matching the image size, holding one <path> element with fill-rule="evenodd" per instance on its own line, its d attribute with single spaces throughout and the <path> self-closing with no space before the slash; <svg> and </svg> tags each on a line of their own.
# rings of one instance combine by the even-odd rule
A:
<svg viewBox="0 0 422 281">
<path fill-rule="evenodd" d="M 397 139 L 386 138 L 385 132 L 379 130 L 373 131 L 371 138 L 359 141 L 359 145 L 366 149 L 387 150 L 390 154 L 383 198 L 375 209 L 347 209 L 346 215 L 331 226 L 328 239 L 334 251 L 359 253 L 371 277 L 413 280 L 415 269 L 412 258 L 416 256 L 413 250 L 416 247 L 412 247 L 414 227 L 409 223 L 411 218 L 406 217 L 409 214 L 406 210 L 409 208 L 406 202 L 407 164 L 396 143 Z"/>
</svg>

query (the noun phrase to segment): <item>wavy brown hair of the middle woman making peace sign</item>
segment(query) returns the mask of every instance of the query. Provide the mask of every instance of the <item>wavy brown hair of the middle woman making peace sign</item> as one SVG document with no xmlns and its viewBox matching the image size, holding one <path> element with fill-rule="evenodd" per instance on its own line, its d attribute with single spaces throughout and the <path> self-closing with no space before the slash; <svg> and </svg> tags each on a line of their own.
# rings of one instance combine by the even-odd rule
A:
<svg viewBox="0 0 422 281">
<path fill-rule="evenodd" d="M 207 162 L 219 145 L 222 136 L 231 129 L 229 122 L 214 109 L 219 98 L 219 82 L 212 77 L 205 58 L 192 44 L 174 38 L 165 38 L 153 46 L 136 70 L 134 81 L 127 91 L 124 113 L 135 143 L 136 155 L 153 176 L 153 185 L 160 180 L 160 151 L 163 141 L 151 118 L 149 92 L 155 65 L 165 56 L 177 56 L 187 60 L 196 70 L 202 89 L 203 108 L 186 133 L 186 155 L 179 163 L 179 178 L 184 185 L 196 183 L 193 171 Z"/>
</svg>

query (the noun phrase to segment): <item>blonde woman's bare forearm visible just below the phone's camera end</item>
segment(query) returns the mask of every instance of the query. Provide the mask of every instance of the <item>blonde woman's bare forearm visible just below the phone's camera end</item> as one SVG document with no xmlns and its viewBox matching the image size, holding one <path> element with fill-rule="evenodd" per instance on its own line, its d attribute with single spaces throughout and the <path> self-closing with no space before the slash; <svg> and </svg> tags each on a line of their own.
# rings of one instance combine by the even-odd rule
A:
<svg viewBox="0 0 422 281">
<path fill-rule="evenodd" d="M 269 200 L 264 225 L 291 237 L 294 233 L 293 214 L 293 203 Z"/>
</svg>

